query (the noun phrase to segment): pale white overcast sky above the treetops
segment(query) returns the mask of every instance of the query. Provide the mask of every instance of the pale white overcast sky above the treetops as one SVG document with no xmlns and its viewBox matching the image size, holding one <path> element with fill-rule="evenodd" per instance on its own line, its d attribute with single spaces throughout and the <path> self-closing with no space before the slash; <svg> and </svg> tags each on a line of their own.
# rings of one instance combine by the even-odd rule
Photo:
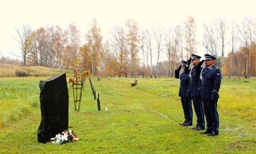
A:
<svg viewBox="0 0 256 154">
<path fill-rule="evenodd" d="M 172 28 L 189 15 L 195 19 L 197 31 L 202 31 L 204 23 L 219 18 L 228 22 L 255 18 L 255 4 L 254 0 L 0 0 L 0 57 L 21 54 L 12 36 L 17 37 L 15 27 L 24 24 L 36 30 L 75 23 L 84 36 L 94 18 L 106 37 L 113 26 L 123 26 L 128 19 L 136 20 L 138 26 Z"/>
</svg>

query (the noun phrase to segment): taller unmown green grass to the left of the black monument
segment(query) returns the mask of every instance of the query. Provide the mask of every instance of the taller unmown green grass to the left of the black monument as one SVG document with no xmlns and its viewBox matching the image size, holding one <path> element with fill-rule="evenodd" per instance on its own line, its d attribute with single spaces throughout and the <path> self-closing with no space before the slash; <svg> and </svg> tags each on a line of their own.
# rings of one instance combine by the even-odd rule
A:
<svg viewBox="0 0 256 154">
<path fill-rule="evenodd" d="M 38 77 L 1 78 L 0 80 L 0 128 L 31 112 L 38 106 Z M 33 82 L 32 82 L 33 81 Z"/>
</svg>

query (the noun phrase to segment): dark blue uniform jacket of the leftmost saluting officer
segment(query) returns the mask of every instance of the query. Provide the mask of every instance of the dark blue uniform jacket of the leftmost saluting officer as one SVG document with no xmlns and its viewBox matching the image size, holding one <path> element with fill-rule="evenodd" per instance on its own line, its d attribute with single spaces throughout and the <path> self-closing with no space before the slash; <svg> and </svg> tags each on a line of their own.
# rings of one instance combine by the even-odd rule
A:
<svg viewBox="0 0 256 154">
<path fill-rule="evenodd" d="M 177 70 L 175 70 L 175 77 L 179 78 L 179 81 L 180 81 L 178 95 L 180 97 L 187 97 L 188 86 L 189 86 L 188 67 L 186 67 L 185 70 L 180 75 L 179 75 L 179 71 L 180 71 L 180 68 L 177 68 Z"/>
</svg>

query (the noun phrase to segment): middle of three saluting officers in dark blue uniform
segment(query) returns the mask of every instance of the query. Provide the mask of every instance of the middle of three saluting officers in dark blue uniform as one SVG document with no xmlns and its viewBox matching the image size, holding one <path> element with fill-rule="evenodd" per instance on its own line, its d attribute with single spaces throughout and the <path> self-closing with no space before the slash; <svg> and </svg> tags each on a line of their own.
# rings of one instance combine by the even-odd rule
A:
<svg viewBox="0 0 256 154">
<path fill-rule="evenodd" d="M 192 54 L 191 55 L 191 61 L 193 64 L 193 67 L 191 68 L 189 72 L 189 88 L 188 88 L 188 96 L 193 100 L 195 115 L 197 117 L 196 120 L 196 126 L 195 130 L 201 130 L 205 129 L 205 118 L 204 118 L 204 111 L 202 108 L 202 102 L 201 102 L 201 80 L 200 80 L 200 74 L 201 74 L 201 65 L 203 63 L 203 60 L 200 61 L 201 56 Z"/>
</svg>

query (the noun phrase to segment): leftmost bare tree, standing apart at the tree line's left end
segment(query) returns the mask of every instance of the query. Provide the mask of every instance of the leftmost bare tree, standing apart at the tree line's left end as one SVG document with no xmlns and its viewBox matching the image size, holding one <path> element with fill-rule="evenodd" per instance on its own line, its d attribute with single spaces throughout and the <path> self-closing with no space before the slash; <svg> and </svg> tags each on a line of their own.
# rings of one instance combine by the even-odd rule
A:
<svg viewBox="0 0 256 154">
<path fill-rule="evenodd" d="M 26 66 L 28 48 L 31 45 L 28 38 L 31 36 L 32 28 L 31 28 L 31 26 L 23 25 L 20 28 L 16 27 L 15 31 L 16 31 L 18 37 L 17 38 L 14 37 L 14 38 L 20 44 L 20 48 L 21 48 L 21 52 L 22 52 L 22 63 L 24 66 Z"/>
</svg>

